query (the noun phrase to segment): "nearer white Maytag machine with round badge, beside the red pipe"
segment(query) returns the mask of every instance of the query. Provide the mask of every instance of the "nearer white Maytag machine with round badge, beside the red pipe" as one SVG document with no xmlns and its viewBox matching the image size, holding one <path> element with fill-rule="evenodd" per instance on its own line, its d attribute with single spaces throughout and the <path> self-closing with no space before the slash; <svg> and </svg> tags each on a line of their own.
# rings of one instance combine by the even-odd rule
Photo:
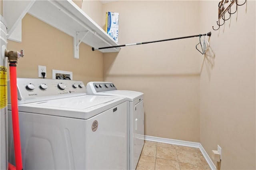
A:
<svg viewBox="0 0 256 170">
<path fill-rule="evenodd" d="M 17 79 L 17 86 L 23 169 L 127 168 L 125 97 L 86 95 L 82 81 Z M 8 116 L 15 164 L 10 104 Z"/>
</svg>

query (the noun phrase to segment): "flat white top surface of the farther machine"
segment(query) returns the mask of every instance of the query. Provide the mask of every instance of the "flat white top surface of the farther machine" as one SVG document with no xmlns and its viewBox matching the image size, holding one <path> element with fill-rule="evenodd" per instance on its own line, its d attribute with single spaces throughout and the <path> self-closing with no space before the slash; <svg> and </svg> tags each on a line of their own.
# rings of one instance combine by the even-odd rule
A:
<svg viewBox="0 0 256 170">
<path fill-rule="evenodd" d="M 127 101 L 135 101 L 136 99 L 143 97 L 144 94 L 138 91 L 112 90 L 94 93 L 94 95 L 127 97 Z"/>
</svg>

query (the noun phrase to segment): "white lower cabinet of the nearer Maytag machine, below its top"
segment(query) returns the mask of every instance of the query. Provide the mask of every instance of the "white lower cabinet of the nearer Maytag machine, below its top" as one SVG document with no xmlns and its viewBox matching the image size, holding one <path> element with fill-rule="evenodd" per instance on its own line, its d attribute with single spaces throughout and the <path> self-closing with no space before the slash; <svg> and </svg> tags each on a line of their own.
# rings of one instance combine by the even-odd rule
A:
<svg viewBox="0 0 256 170">
<path fill-rule="evenodd" d="M 23 168 L 126 169 L 126 109 L 124 102 L 87 120 L 19 112 Z"/>
</svg>

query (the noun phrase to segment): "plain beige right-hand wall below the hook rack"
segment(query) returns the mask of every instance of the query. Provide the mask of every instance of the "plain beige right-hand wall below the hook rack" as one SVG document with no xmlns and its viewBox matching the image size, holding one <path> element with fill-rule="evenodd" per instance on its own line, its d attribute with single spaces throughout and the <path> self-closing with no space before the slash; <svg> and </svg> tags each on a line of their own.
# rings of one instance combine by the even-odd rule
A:
<svg viewBox="0 0 256 170">
<path fill-rule="evenodd" d="M 200 143 L 209 156 L 220 145 L 221 169 L 256 169 L 255 6 L 249 0 L 212 30 L 211 50 L 200 64 Z M 200 7 L 202 29 L 218 28 L 218 1 Z"/>
</svg>

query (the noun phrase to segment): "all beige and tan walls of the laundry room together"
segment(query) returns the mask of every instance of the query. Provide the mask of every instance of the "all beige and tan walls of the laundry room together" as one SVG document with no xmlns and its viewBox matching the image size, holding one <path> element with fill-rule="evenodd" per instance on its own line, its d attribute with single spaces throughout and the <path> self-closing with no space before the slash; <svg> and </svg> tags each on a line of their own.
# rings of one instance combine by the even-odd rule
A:
<svg viewBox="0 0 256 170">
<path fill-rule="evenodd" d="M 102 8 L 90 10 L 91 6 Z M 240 3 L 240 1 L 239 1 Z M 73 71 L 73 78 L 113 81 L 118 89 L 145 94 L 145 134 L 200 142 L 209 156 L 222 147 L 221 169 L 256 169 L 255 1 L 238 7 L 220 30 L 218 1 L 83 2 L 83 10 L 104 27 L 105 12 L 120 13 L 119 43 L 146 42 L 211 31 L 210 50 L 201 55 L 198 38 L 122 47 L 119 53 L 91 51 L 80 44 L 73 58 L 72 37 L 27 14 L 25 50 L 18 77 L 36 78 L 38 65 Z M 33 23 L 33 24 L 31 24 Z M 101 23 L 101 24 L 100 24 Z M 214 162 L 216 164 L 216 162 Z"/>
</svg>

